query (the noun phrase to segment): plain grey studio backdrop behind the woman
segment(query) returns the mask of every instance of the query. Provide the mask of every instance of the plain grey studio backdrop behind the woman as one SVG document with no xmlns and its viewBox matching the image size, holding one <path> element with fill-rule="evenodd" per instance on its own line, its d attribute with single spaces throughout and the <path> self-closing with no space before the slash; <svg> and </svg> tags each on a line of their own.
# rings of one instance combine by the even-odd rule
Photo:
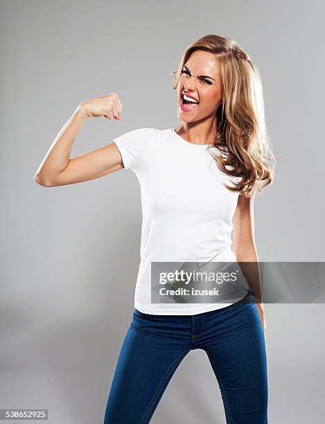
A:
<svg viewBox="0 0 325 424">
<path fill-rule="evenodd" d="M 35 171 L 77 105 L 116 91 L 71 156 L 141 127 L 176 127 L 169 74 L 216 33 L 261 71 L 276 179 L 255 201 L 258 256 L 324 260 L 324 10 L 317 1 L 1 1 L 0 408 L 102 423 L 130 325 L 141 199 L 131 170 L 44 188 Z M 308 282 L 306 282 L 308 283 Z M 324 419 L 324 304 L 265 304 L 270 423 Z M 323 357 L 324 359 L 324 357 Z M 225 423 L 204 351 L 179 365 L 152 423 Z"/>
</svg>

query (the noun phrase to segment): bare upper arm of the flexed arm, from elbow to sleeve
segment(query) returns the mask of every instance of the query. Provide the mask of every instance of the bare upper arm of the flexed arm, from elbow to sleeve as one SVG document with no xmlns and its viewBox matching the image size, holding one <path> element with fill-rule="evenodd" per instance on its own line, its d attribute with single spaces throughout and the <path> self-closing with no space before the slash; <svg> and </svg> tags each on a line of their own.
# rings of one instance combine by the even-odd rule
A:
<svg viewBox="0 0 325 424">
<path fill-rule="evenodd" d="M 121 153 L 112 141 L 103 147 L 69 159 L 67 166 L 55 177 L 51 186 L 85 182 L 104 177 L 123 168 Z"/>
</svg>

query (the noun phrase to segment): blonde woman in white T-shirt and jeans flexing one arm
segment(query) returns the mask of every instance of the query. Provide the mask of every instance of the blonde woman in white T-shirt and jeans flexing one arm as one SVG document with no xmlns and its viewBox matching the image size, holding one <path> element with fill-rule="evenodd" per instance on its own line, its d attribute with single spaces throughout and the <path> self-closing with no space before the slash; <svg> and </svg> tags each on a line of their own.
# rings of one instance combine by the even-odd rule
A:
<svg viewBox="0 0 325 424">
<path fill-rule="evenodd" d="M 130 168 L 141 184 L 141 263 L 133 319 L 116 364 L 105 424 L 148 423 L 177 366 L 195 348 L 209 357 L 227 423 L 264 424 L 265 317 L 253 202 L 256 190 L 273 180 L 263 154 L 274 157 L 261 79 L 238 43 L 218 35 L 188 46 L 173 74 L 179 127 L 133 130 L 70 159 L 87 118 L 121 118 L 116 94 L 86 100 L 58 134 L 35 181 L 62 186 Z M 246 292 L 236 287 L 223 302 L 173 295 L 157 301 L 152 264 L 236 260 L 255 264 L 253 271 L 243 267 L 249 276 Z"/>
</svg>

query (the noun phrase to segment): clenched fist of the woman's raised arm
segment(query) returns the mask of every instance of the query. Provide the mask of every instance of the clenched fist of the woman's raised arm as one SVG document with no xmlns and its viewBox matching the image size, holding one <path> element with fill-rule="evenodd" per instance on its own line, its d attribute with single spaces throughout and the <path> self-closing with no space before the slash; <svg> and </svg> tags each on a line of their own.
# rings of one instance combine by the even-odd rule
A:
<svg viewBox="0 0 325 424">
<path fill-rule="evenodd" d="M 87 116 L 99 118 L 104 116 L 107 119 L 121 119 L 122 105 L 116 93 L 105 94 L 104 96 L 89 98 L 80 103 L 79 108 L 82 109 Z"/>
</svg>

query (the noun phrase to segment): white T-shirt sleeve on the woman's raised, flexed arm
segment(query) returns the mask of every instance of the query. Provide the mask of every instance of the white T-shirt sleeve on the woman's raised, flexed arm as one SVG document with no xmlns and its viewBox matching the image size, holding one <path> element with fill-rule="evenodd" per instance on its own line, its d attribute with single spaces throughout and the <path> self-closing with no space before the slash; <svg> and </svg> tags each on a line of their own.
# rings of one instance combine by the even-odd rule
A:
<svg viewBox="0 0 325 424">
<path fill-rule="evenodd" d="M 125 169 L 139 168 L 151 134 L 151 128 L 139 128 L 113 140 L 121 153 Z"/>
</svg>

